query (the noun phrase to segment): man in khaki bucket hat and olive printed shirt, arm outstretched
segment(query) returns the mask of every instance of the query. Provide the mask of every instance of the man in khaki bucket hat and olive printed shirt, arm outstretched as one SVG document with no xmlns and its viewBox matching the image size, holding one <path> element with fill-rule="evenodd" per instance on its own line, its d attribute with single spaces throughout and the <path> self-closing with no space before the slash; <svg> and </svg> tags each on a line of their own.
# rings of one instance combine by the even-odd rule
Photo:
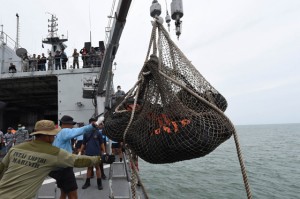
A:
<svg viewBox="0 0 300 199">
<path fill-rule="evenodd" d="M 35 140 L 12 147 L 0 163 L 1 199 L 35 198 L 51 170 L 98 165 L 100 157 L 77 156 L 52 146 L 60 131 L 50 120 L 35 124 Z"/>
</svg>

